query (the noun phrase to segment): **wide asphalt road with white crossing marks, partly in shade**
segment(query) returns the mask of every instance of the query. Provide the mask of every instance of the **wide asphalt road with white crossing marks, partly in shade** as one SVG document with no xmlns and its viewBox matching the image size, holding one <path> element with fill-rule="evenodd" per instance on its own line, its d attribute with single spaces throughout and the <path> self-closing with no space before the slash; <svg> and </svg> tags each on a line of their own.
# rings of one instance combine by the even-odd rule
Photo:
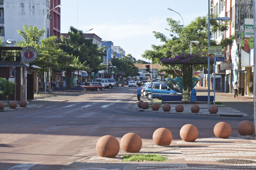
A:
<svg viewBox="0 0 256 170">
<path fill-rule="evenodd" d="M 97 155 L 96 143 L 104 135 L 120 141 L 126 133 L 137 133 L 147 146 L 154 145 L 152 134 L 160 127 L 168 128 L 177 141 L 185 124 L 198 128 L 198 138 L 207 138 L 214 136 L 213 127 L 220 121 L 229 123 L 231 135 L 238 135 L 238 123 L 252 120 L 130 110 L 136 102 L 136 87 L 112 88 L 60 92 L 58 101 L 45 101 L 44 107 L 0 112 L 0 169 L 61 169 Z"/>
</svg>

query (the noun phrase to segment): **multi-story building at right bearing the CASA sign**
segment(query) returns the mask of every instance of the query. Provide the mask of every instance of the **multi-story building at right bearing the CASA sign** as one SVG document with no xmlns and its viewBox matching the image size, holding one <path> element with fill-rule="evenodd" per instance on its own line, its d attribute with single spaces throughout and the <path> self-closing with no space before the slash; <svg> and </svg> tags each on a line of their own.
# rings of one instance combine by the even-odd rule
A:
<svg viewBox="0 0 256 170">
<path fill-rule="evenodd" d="M 239 94 L 251 96 L 252 87 L 252 66 L 253 57 L 250 56 L 250 49 L 253 48 L 253 38 L 250 31 L 245 26 L 253 25 L 253 3 L 252 0 L 212 0 L 214 4 L 214 14 L 218 17 L 228 16 L 229 29 L 224 32 L 214 33 L 214 40 L 220 41 L 234 36 L 232 45 L 225 47 L 225 62 L 232 63 L 230 70 L 220 70 L 217 65 L 216 72 L 224 71 L 224 92 L 233 92 L 233 85 L 238 82 Z M 247 29 L 247 30 L 246 30 Z M 247 33 L 245 33 L 247 31 Z M 218 63 L 220 64 L 220 63 Z"/>
</svg>

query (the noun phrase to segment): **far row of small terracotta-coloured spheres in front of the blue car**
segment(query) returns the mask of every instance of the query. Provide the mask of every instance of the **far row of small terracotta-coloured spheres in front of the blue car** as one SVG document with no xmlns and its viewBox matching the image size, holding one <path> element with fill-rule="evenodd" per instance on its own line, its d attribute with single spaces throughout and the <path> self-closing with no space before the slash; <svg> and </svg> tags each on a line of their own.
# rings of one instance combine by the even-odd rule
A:
<svg viewBox="0 0 256 170">
<path fill-rule="evenodd" d="M 140 107 L 142 109 L 148 109 L 149 104 L 148 104 L 148 102 L 143 102 L 142 100 L 140 100 L 138 102 L 138 107 Z M 152 108 L 152 110 L 158 110 L 160 108 L 160 106 L 158 103 L 153 103 L 151 108 Z M 162 108 L 164 111 L 170 111 L 171 106 L 170 106 L 170 104 L 166 103 L 166 104 L 163 104 Z M 175 106 L 175 110 L 176 110 L 176 112 L 182 112 L 184 110 L 184 106 L 182 104 L 177 104 Z M 190 110 L 192 111 L 192 113 L 198 113 L 200 110 L 200 107 L 197 104 L 193 104 L 190 107 Z M 218 107 L 215 105 L 211 105 L 208 110 L 211 114 L 216 114 L 218 112 Z"/>
</svg>

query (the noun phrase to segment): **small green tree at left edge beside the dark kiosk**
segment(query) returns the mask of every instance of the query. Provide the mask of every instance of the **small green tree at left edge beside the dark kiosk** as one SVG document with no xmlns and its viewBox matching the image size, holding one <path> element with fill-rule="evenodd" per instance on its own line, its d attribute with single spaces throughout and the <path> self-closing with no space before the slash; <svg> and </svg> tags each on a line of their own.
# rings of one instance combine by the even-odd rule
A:
<svg viewBox="0 0 256 170">
<path fill-rule="evenodd" d="M 9 105 L 10 95 L 13 93 L 15 82 L 8 82 L 7 79 L 0 77 L 0 94 L 6 97 L 7 104 Z"/>
</svg>

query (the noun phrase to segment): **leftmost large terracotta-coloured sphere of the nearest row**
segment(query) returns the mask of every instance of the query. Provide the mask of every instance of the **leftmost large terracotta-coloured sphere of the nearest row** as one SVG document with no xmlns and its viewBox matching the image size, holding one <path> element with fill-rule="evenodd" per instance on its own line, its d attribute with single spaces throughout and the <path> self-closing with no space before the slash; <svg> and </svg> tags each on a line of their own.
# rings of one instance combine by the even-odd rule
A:
<svg viewBox="0 0 256 170">
<path fill-rule="evenodd" d="M 101 157 L 115 157 L 119 149 L 118 140 L 110 135 L 101 137 L 96 144 L 96 151 Z"/>
</svg>

